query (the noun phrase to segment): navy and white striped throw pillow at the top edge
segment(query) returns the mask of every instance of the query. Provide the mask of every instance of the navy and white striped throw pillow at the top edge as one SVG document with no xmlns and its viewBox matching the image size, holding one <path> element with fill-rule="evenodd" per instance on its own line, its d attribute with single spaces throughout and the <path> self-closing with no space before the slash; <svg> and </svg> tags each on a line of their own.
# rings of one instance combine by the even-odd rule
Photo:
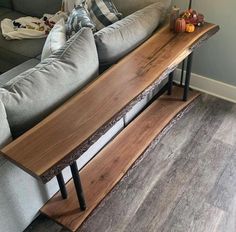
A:
<svg viewBox="0 0 236 232">
<path fill-rule="evenodd" d="M 90 17 L 96 24 L 96 29 L 101 30 L 122 18 L 112 0 L 86 0 L 85 7 Z"/>
</svg>

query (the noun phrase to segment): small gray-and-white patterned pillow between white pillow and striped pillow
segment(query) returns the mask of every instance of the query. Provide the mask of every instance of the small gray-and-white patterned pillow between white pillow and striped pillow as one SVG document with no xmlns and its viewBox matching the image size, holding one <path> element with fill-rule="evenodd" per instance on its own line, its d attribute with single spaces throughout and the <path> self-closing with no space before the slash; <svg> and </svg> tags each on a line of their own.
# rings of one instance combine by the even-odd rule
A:
<svg viewBox="0 0 236 232">
<path fill-rule="evenodd" d="M 89 27 L 92 30 L 95 29 L 95 25 L 91 21 L 89 13 L 83 6 L 79 5 L 72 10 L 66 22 L 67 37 L 70 38 L 72 35 L 78 32 L 82 27 Z"/>
</svg>

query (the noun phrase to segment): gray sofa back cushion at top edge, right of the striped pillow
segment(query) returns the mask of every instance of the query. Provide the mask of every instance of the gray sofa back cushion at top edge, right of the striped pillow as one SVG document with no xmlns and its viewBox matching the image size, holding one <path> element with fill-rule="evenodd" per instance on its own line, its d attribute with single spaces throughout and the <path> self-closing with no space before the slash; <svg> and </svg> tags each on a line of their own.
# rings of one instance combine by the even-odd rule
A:
<svg viewBox="0 0 236 232">
<path fill-rule="evenodd" d="M 117 9 L 124 15 L 130 15 L 152 3 L 161 3 L 165 8 L 169 8 L 171 0 L 113 0 Z"/>
</svg>

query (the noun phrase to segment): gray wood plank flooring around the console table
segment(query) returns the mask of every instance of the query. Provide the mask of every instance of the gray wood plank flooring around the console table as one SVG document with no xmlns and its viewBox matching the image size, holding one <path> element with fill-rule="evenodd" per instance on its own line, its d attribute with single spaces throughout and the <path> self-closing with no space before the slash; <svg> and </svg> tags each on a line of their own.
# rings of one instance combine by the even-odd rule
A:
<svg viewBox="0 0 236 232">
<path fill-rule="evenodd" d="M 40 216 L 30 231 L 67 230 Z M 236 232 L 236 104 L 200 97 L 79 229 L 93 231 Z"/>
</svg>

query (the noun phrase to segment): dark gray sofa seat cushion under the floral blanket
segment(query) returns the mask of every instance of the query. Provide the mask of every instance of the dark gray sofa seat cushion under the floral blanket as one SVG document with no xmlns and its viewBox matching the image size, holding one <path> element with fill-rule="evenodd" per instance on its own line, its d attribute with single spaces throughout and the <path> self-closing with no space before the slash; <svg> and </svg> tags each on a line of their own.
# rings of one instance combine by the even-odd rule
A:
<svg viewBox="0 0 236 232">
<path fill-rule="evenodd" d="M 17 19 L 25 15 L 11 11 L 0 16 L 0 21 L 4 18 Z M 45 38 L 6 40 L 0 33 L 0 73 L 4 73 L 11 68 L 41 54 Z"/>
</svg>

